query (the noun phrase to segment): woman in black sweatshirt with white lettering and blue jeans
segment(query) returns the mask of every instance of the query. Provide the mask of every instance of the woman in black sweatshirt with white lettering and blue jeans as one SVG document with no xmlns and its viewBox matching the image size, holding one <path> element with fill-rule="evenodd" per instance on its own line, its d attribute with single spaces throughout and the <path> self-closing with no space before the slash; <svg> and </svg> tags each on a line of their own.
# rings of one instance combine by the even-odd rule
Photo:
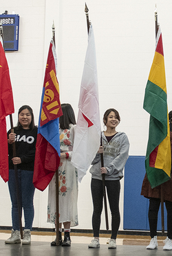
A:
<svg viewBox="0 0 172 256">
<path fill-rule="evenodd" d="M 34 174 L 37 127 L 34 125 L 33 111 L 28 105 L 24 105 L 19 109 L 18 118 L 18 124 L 17 127 L 14 127 L 14 133 L 11 130 L 8 131 L 8 188 L 12 201 L 12 234 L 5 241 L 6 244 L 21 243 L 14 165 L 17 165 L 21 211 L 23 208 L 25 217 L 22 244 L 30 244 L 31 242 L 30 230 L 32 230 L 34 219 L 34 185 L 32 179 Z M 14 142 L 16 146 L 16 157 L 12 156 L 12 143 Z"/>
</svg>

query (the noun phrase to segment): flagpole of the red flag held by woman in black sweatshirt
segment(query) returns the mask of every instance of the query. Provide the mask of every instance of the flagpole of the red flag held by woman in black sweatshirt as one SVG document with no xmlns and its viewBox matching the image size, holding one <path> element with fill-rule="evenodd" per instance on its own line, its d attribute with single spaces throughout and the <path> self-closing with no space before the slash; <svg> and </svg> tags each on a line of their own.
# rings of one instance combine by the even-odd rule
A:
<svg viewBox="0 0 172 256">
<path fill-rule="evenodd" d="M 1 22 L 0 22 L 0 36 L 1 36 L 2 41 L 3 41 L 3 28 L 2 28 L 2 23 Z M 4 49 L 4 43 L 3 43 L 3 49 Z M 11 132 L 14 134 L 12 114 L 10 114 L 10 124 L 11 124 Z M 13 157 L 16 157 L 15 142 L 12 143 L 12 152 L 13 152 Z M 20 192 L 19 192 L 19 180 L 18 180 L 17 165 L 14 165 L 14 173 L 15 173 L 16 190 L 17 190 L 17 208 L 18 208 L 18 215 L 19 215 L 19 226 L 20 226 L 21 239 L 23 239 L 23 229 L 22 229 L 22 222 L 21 222 L 21 196 L 20 196 Z"/>
</svg>

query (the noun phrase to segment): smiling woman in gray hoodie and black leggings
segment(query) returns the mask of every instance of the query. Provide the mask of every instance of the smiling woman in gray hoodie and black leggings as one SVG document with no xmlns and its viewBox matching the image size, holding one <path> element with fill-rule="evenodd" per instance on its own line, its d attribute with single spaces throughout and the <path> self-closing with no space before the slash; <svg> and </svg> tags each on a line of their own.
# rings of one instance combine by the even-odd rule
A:
<svg viewBox="0 0 172 256">
<path fill-rule="evenodd" d="M 105 174 L 105 186 L 111 210 L 111 239 L 108 248 L 116 248 L 116 236 L 120 226 L 119 198 L 120 179 L 123 177 L 123 169 L 129 156 L 129 140 L 124 132 L 116 131 L 120 123 L 120 115 L 116 109 L 107 109 L 103 116 L 106 131 L 103 131 L 102 142 L 98 153 L 92 162 L 90 172 L 92 174 L 92 200 L 94 212 L 92 226 L 94 239 L 89 248 L 99 248 L 100 217 L 103 210 L 103 181 Z M 103 153 L 104 167 L 101 167 L 100 154 Z"/>
</svg>

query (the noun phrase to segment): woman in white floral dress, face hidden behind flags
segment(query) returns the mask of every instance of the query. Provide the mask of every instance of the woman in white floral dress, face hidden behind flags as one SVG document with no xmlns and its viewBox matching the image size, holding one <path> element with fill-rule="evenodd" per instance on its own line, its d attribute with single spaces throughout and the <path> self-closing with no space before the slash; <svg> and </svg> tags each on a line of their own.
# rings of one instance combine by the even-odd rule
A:
<svg viewBox="0 0 172 256">
<path fill-rule="evenodd" d="M 78 173 L 71 164 L 72 149 L 74 143 L 75 116 L 70 104 L 61 104 L 63 116 L 59 118 L 61 163 L 58 167 L 58 201 L 59 201 L 59 244 L 70 246 L 70 227 L 78 225 Z M 49 185 L 47 222 L 56 225 L 56 175 Z M 61 237 L 62 223 L 64 226 L 64 240 Z M 52 241 L 56 246 L 56 240 Z"/>
</svg>

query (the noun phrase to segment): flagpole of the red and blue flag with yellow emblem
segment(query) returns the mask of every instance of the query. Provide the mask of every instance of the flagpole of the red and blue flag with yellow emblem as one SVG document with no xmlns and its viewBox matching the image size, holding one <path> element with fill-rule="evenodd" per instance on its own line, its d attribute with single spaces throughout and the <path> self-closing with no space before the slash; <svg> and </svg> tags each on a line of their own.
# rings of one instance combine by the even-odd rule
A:
<svg viewBox="0 0 172 256">
<path fill-rule="evenodd" d="M 54 21 L 52 24 L 52 39 L 54 42 L 54 46 L 56 47 L 56 42 L 55 42 L 55 26 L 54 26 Z M 56 246 L 59 246 L 59 207 L 58 207 L 58 170 L 56 170 Z"/>
</svg>

